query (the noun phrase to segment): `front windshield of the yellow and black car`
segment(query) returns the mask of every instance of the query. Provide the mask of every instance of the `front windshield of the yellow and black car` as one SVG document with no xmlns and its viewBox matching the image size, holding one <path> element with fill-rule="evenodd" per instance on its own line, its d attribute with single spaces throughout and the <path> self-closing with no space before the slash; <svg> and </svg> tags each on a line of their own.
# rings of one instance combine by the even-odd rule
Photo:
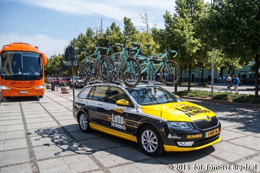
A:
<svg viewBox="0 0 260 173">
<path fill-rule="evenodd" d="M 126 88 L 126 90 L 140 105 L 155 105 L 183 101 L 170 91 L 159 86 L 134 87 Z"/>
</svg>

